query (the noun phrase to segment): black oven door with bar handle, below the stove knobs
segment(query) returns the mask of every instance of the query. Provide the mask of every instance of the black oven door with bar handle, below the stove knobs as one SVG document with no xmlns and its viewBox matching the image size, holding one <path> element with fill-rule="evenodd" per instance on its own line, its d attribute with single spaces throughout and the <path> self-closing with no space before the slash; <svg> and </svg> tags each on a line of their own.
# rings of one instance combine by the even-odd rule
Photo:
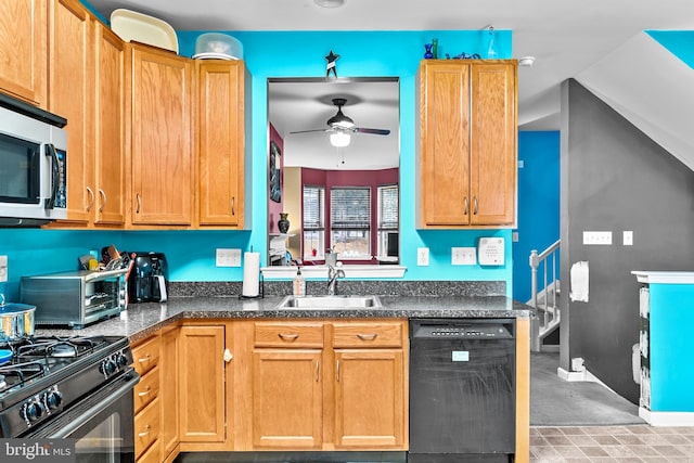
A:
<svg viewBox="0 0 694 463">
<path fill-rule="evenodd" d="M 139 380 L 134 370 L 128 371 L 22 437 L 74 439 L 78 463 L 134 463 L 132 389 Z"/>
</svg>

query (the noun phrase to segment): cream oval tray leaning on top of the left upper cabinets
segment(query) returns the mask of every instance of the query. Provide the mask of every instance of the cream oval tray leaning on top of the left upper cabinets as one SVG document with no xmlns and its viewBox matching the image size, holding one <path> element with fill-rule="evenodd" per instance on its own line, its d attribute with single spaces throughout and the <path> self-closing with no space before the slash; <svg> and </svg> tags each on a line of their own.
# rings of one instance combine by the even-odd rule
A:
<svg viewBox="0 0 694 463">
<path fill-rule="evenodd" d="M 111 13 L 111 28 L 125 41 L 146 43 L 178 54 L 176 30 L 157 17 L 120 8 Z"/>
</svg>

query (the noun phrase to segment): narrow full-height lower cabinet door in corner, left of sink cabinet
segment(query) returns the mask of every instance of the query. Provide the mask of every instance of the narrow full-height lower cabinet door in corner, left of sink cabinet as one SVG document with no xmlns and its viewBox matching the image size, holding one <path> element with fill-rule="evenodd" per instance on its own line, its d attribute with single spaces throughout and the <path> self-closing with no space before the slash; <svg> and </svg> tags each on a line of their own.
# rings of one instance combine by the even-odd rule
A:
<svg viewBox="0 0 694 463">
<path fill-rule="evenodd" d="M 181 441 L 223 442 L 224 326 L 181 326 L 179 342 Z"/>
</svg>

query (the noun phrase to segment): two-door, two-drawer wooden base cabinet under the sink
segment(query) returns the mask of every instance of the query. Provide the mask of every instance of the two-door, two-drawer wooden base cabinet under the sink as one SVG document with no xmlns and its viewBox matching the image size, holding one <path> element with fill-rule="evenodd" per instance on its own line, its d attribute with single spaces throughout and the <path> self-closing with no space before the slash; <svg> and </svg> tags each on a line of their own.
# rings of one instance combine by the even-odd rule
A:
<svg viewBox="0 0 694 463">
<path fill-rule="evenodd" d="M 253 360 L 234 450 L 407 449 L 406 322 L 237 323 Z"/>
</svg>

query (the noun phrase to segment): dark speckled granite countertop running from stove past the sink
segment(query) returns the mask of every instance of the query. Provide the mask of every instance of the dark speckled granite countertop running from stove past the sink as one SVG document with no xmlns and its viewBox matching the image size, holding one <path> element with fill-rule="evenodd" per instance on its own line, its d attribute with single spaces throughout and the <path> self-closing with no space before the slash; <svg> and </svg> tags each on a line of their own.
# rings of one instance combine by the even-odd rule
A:
<svg viewBox="0 0 694 463">
<path fill-rule="evenodd" d="M 505 296 L 378 296 L 382 308 L 281 309 L 282 297 L 259 299 L 228 297 L 171 297 L 166 304 L 131 304 L 114 317 L 81 330 L 36 327 L 37 335 L 117 335 L 131 342 L 185 319 L 290 318 L 528 318 L 535 309 Z"/>
</svg>

